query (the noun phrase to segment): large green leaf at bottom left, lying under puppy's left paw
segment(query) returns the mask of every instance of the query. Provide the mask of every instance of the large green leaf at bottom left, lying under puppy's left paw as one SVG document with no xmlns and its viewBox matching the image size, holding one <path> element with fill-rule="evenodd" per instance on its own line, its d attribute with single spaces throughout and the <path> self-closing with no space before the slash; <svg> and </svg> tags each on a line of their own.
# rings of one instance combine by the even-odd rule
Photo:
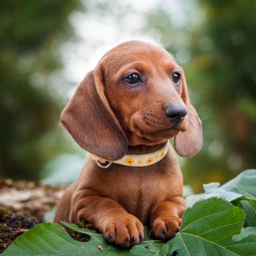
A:
<svg viewBox="0 0 256 256">
<path fill-rule="evenodd" d="M 61 225 L 56 223 L 43 223 L 25 232 L 18 237 L 2 254 L 3 256 L 28 255 L 128 255 L 128 249 L 120 249 L 108 243 L 102 234 L 94 231 L 85 231 L 90 235 L 90 241 L 77 242 L 73 240 Z M 102 245 L 103 251 L 98 249 Z"/>
</svg>

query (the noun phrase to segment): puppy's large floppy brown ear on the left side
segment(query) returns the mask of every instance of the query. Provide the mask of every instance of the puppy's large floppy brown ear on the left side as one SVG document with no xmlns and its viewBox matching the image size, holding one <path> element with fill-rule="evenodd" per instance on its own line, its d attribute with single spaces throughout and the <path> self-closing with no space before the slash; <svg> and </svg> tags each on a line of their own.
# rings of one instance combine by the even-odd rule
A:
<svg viewBox="0 0 256 256">
<path fill-rule="evenodd" d="M 78 145 L 92 154 L 109 161 L 126 154 L 127 139 L 104 95 L 100 66 L 78 85 L 60 122 Z"/>
</svg>

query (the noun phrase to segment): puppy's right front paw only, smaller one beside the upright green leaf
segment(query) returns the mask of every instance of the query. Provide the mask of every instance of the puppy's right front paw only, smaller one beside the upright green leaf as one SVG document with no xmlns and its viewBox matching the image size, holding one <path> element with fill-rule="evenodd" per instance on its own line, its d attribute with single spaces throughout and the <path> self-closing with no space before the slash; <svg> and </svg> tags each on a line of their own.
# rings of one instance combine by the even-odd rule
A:
<svg viewBox="0 0 256 256">
<path fill-rule="evenodd" d="M 171 240 L 180 231 L 181 218 L 170 216 L 154 220 L 149 237 L 156 237 L 159 240 Z"/>
</svg>

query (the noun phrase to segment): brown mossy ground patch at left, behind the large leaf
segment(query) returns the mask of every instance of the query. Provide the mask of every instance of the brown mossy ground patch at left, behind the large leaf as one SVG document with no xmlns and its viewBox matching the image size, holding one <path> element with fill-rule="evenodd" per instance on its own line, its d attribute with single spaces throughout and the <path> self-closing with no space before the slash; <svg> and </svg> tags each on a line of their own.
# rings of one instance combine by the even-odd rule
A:
<svg viewBox="0 0 256 256">
<path fill-rule="evenodd" d="M 41 223 L 66 186 L 0 180 L 0 253 L 23 232 Z"/>
</svg>

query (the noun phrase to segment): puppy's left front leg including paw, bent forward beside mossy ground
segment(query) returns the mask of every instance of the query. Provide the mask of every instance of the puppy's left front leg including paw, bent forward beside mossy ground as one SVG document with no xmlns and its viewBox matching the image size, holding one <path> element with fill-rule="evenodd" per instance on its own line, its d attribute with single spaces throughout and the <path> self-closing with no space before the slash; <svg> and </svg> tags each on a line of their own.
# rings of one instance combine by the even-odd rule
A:
<svg viewBox="0 0 256 256">
<path fill-rule="evenodd" d="M 75 221 L 87 220 L 104 234 L 108 242 L 121 247 L 130 247 L 142 241 L 144 227 L 140 220 L 112 199 L 96 195 L 84 196 L 84 193 L 84 190 L 80 191 L 79 195 L 73 197 L 72 222 L 74 216 Z"/>
</svg>

